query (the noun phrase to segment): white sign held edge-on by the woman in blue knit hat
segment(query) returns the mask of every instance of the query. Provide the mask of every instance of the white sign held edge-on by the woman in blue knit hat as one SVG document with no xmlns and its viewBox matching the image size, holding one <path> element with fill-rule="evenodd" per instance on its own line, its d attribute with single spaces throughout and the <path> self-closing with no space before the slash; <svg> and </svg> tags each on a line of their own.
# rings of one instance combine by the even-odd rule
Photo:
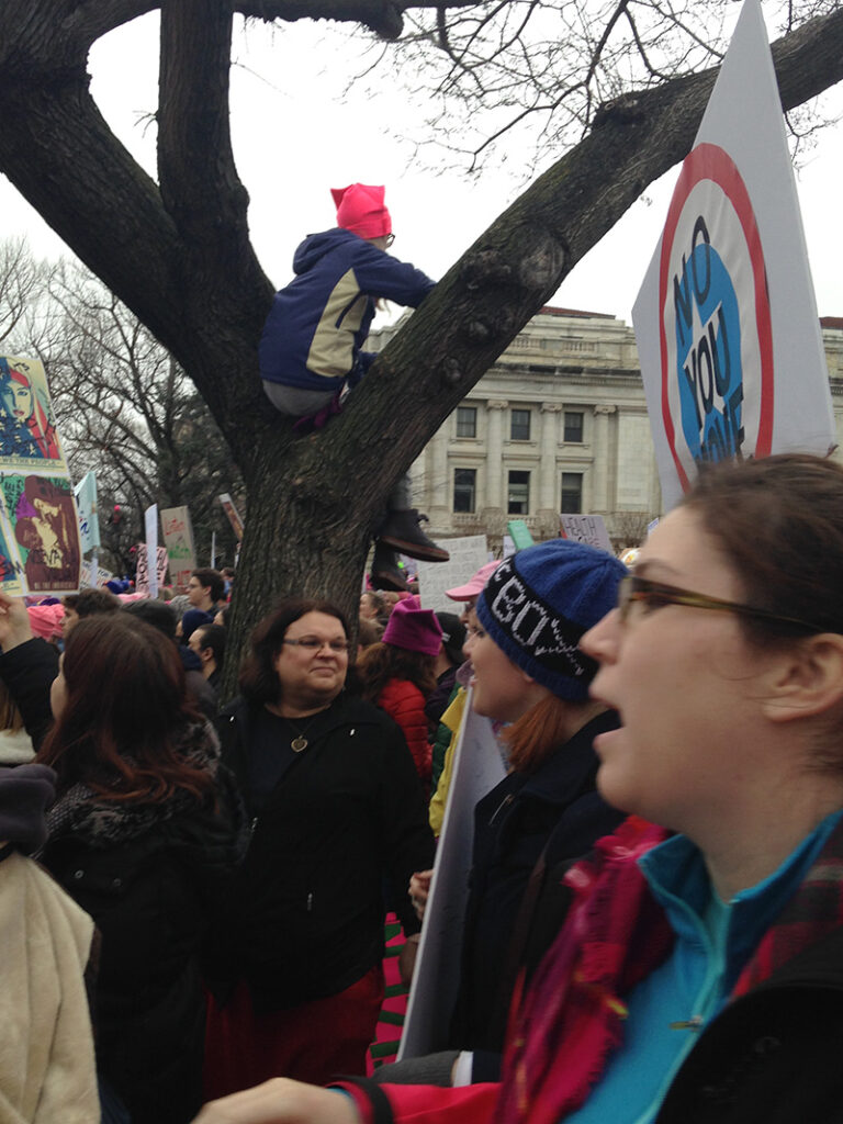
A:
<svg viewBox="0 0 843 1124">
<path fill-rule="evenodd" d="M 460 984 L 474 805 L 506 774 L 490 720 L 471 709 L 471 691 L 454 752 L 451 789 L 422 926 L 399 1061 L 419 1058 L 447 1044 Z"/>
</svg>

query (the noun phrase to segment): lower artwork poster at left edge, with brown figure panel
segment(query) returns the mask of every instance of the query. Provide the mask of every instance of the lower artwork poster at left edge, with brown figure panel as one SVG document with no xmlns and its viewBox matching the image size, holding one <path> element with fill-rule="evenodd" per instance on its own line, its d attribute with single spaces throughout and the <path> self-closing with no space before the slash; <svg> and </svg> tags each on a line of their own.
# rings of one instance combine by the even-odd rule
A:
<svg viewBox="0 0 843 1124">
<path fill-rule="evenodd" d="M 79 589 L 82 550 L 70 480 L 3 474 L 0 496 L 11 527 L 13 568 L 29 593 Z M 6 583 L 3 583 L 6 589 Z"/>
</svg>

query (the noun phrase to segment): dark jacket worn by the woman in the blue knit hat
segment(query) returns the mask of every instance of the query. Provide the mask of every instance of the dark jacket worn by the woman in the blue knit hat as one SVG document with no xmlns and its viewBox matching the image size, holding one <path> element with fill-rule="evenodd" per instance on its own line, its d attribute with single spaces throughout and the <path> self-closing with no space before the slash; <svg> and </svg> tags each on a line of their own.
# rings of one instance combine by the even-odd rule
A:
<svg viewBox="0 0 843 1124">
<path fill-rule="evenodd" d="M 513 937 L 536 863 L 547 872 L 587 853 L 624 818 L 595 788 L 592 742 L 617 726 L 606 713 L 559 746 L 534 773 L 510 772 L 474 809 L 474 850 L 465 914 L 462 973 L 452 1044 L 498 1052 L 506 1034 L 516 967 L 535 968 L 555 936 L 566 898 L 538 895 L 531 940 L 513 961 Z M 536 940 L 536 933 L 542 935 Z"/>
</svg>

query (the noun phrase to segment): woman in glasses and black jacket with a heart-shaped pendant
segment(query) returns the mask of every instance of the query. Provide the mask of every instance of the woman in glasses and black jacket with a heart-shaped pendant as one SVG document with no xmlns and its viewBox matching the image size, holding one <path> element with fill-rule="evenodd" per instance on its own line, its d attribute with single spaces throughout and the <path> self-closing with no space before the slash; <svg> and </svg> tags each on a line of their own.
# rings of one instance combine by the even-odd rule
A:
<svg viewBox="0 0 843 1124">
<path fill-rule="evenodd" d="M 215 955 L 209 1095 L 365 1072 L 386 886 L 418 930 L 405 888 L 433 854 L 422 786 L 396 724 L 345 692 L 348 643 L 335 606 L 282 601 L 220 716 L 252 840 Z"/>
</svg>

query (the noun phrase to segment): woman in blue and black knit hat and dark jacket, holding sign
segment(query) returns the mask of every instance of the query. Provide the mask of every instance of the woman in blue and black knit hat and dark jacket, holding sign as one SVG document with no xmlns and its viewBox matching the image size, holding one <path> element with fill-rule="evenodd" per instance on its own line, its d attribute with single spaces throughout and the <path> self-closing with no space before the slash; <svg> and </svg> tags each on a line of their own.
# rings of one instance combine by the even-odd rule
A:
<svg viewBox="0 0 843 1124">
<path fill-rule="evenodd" d="M 538 964 L 566 909 L 551 874 L 623 818 L 595 788 L 591 743 L 617 719 L 589 699 L 597 664 L 578 643 L 625 573 L 610 554 L 555 538 L 501 562 L 478 598 L 471 703 L 509 724 L 509 772 L 474 809 L 453 1049 L 382 1067 L 378 1081 L 450 1085 L 455 1062 L 460 1084 L 497 1080 L 517 971 Z"/>
</svg>

